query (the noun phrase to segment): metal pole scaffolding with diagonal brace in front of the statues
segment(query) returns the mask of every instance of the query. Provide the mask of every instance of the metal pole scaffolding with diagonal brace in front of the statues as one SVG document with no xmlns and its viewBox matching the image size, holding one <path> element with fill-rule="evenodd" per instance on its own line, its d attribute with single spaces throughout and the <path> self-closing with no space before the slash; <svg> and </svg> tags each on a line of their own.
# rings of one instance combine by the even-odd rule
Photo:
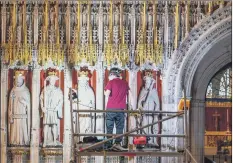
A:
<svg viewBox="0 0 233 163">
<path fill-rule="evenodd" d="M 72 90 L 70 90 L 70 92 L 72 92 Z M 72 93 L 70 93 L 70 99 L 72 99 Z M 139 128 L 135 128 L 131 131 L 125 132 L 123 134 L 86 134 L 86 133 L 74 133 L 74 129 L 73 129 L 73 118 L 71 118 L 72 121 L 72 144 L 73 144 L 73 149 L 72 149 L 72 159 L 75 160 L 78 163 L 81 163 L 81 157 L 82 156 L 104 156 L 105 157 L 105 161 L 106 161 L 106 156 L 125 156 L 125 157 L 134 157 L 134 156 L 155 156 L 155 157 L 183 157 L 183 162 L 188 163 L 190 162 L 190 159 L 193 160 L 193 162 L 197 163 L 197 161 L 195 160 L 195 158 L 192 156 L 191 152 L 190 152 L 190 145 L 189 145 L 189 127 L 188 127 L 188 117 L 187 114 L 189 114 L 189 110 L 187 110 L 186 107 L 186 95 L 185 95 L 185 90 L 184 90 L 184 110 L 183 111 L 178 111 L 178 112 L 171 112 L 171 111 L 138 111 L 138 110 L 73 110 L 72 109 L 72 100 L 70 100 L 70 105 L 71 105 L 71 113 L 73 114 L 74 112 L 79 113 L 79 112 L 88 112 L 88 113 L 106 113 L 106 112 L 124 112 L 127 114 L 131 114 L 131 113 L 153 113 L 153 114 L 160 114 L 163 116 L 166 116 L 166 118 L 160 119 L 156 122 L 153 122 L 151 124 L 139 127 Z M 71 116 L 72 116 L 71 114 Z M 189 114 L 190 115 L 190 114 Z M 162 123 L 166 120 L 175 118 L 175 117 L 179 117 L 179 116 L 183 116 L 183 125 L 184 125 L 184 134 L 177 134 L 177 135 L 169 135 L 169 134 L 157 134 L 157 135 L 146 135 L 146 134 L 132 134 L 136 131 L 140 131 L 144 128 L 153 126 L 155 124 L 158 123 Z M 91 144 L 87 147 L 84 148 L 80 148 L 77 149 L 75 146 L 75 142 L 74 142 L 74 137 L 80 137 L 80 136 L 112 136 L 109 139 L 103 140 L 101 142 L 97 142 L 95 144 Z M 123 137 L 123 136 L 128 136 L 128 137 L 134 137 L 134 136 L 149 136 L 149 137 L 176 137 L 176 138 L 184 138 L 184 148 L 182 150 L 179 150 L 177 152 L 167 152 L 167 151 L 156 151 L 156 150 L 150 150 L 150 151 L 146 151 L 146 150 L 129 150 L 129 151 L 124 151 L 124 152 L 112 152 L 112 151 L 92 151 L 89 149 L 94 149 L 95 147 L 99 147 L 101 145 L 104 145 L 104 143 L 111 141 L 113 139 L 119 138 L 119 137 Z"/>
</svg>

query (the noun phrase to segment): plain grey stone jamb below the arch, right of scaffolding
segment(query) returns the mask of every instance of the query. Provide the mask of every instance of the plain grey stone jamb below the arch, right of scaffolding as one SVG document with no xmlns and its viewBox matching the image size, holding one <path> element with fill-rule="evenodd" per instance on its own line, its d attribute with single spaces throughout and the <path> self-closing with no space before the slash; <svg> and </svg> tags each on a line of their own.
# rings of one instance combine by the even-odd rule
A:
<svg viewBox="0 0 233 163">
<path fill-rule="evenodd" d="M 205 101 L 192 99 L 190 111 L 191 152 L 198 163 L 203 163 L 205 135 Z"/>
</svg>

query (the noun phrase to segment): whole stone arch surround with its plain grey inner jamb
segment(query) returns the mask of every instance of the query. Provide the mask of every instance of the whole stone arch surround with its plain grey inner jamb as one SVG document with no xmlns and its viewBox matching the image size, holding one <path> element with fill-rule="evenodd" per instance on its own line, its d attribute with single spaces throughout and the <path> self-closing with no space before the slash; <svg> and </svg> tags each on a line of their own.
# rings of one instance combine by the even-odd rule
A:
<svg viewBox="0 0 233 163">
<path fill-rule="evenodd" d="M 198 24 L 173 54 L 163 82 L 165 108 L 177 110 L 184 87 L 191 99 L 189 149 L 198 163 L 204 162 L 206 89 L 214 74 L 231 63 L 231 22 L 228 6 Z M 176 128 L 178 134 L 183 132 L 182 123 L 178 122 Z M 179 141 L 176 146 L 180 146 Z"/>
</svg>

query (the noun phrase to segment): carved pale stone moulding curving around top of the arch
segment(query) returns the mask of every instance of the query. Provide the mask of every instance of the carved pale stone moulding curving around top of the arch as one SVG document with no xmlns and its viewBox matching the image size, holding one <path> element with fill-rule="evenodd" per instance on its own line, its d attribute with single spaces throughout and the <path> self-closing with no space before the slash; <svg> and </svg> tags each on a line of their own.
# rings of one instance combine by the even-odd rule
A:
<svg viewBox="0 0 233 163">
<path fill-rule="evenodd" d="M 166 83 L 168 84 L 169 96 L 172 98 L 169 103 L 174 103 L 175 98 L 182 94 L 181 89 L 177 85 L 180 80 L 185 82 L 182 84 L 190 86 L 189 82 L 192 81 L 193 71 L 196 70 L 204 54 L 201 54 L 200 51 L 205 51 L 216 39 L 229 33 L 229 31 L 231 32 L 231 11 L 232 7 L 226 6 L 200 21 L 184 39 L 180 47 L 172 54 L 171 64 L 167 71 L 168 81 Z M 193 65 L 194 63 L 196 65 Z M 186 92 L 190 93 L 190 88 L 187 89 Z M 188 93 L 187 96 L 189 96 Z"/>
</svg>

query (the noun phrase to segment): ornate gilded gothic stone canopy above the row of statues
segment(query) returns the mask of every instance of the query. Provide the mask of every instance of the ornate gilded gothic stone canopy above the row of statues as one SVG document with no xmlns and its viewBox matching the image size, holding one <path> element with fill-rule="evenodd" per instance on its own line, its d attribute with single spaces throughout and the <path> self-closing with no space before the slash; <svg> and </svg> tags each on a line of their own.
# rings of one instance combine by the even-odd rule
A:
<svg viewBox="0 0 233 163">
<path fill-rule="evenodd" d="M 227 1 L 2 1 L 2 61 L 12 68 L 166 68 L 190 29 Z"/>
</svg>

